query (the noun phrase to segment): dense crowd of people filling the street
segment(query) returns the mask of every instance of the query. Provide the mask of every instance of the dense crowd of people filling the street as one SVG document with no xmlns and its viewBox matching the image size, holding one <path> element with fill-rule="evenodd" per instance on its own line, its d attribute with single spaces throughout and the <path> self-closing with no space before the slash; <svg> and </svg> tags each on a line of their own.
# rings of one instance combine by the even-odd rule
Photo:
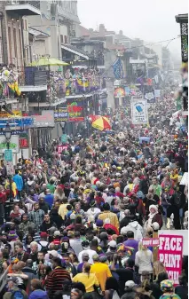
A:
<svg viewBox="0 0 189 299">
<path fill-rule="evenodd" d="M 2 163 L 1 298 L 187 298 L 187 256 L 174 288 L 141 242 L 187 229 L 187 133 L 170 120 L 175 111 L 164 96 L 149 107 L 147 126 L 133 126 L 130 108 L 120 107 L 113 134 L 68 137 L 62 153 L 52 140 L 45 153 L 20 159 L 12 183 Z"/>
</svg>

